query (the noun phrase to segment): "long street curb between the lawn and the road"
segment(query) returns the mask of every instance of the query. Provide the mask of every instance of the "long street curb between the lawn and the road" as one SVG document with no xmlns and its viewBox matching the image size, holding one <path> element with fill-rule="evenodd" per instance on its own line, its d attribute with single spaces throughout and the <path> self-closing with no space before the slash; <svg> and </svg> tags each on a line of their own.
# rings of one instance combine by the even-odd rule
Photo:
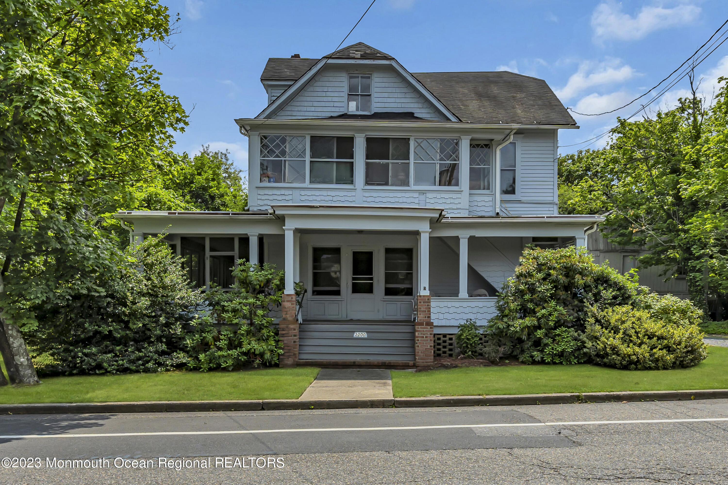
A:
<svg viewBox="0 0 728 485">
<path fill-rule="evenodd" d="M 0 414 L 108 414 L 132 412 L 285 411 L 454 406 L 531 406 L 539 404 L 697 401 L 727 399 L 728 389 L 645 390 L 614 393 L 518 394 L 502 396 L 435 396 L 394 399 L 266 399 L 251 401 L 141 401 L 119 403 L 0 404 Z"/>
</svg>

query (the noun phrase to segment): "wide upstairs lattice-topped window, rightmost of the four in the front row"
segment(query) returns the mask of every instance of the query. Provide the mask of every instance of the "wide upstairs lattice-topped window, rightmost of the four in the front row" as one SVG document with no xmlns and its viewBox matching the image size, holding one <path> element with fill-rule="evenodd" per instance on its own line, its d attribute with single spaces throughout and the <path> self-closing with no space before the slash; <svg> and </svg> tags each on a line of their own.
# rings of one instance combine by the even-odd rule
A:
<svg viewBox="0 0 728 485">
<path fill-rule="evenodd" d="M 414 185 L 456 187 L 459 183 L 458 138 L 414 139 Z"/>
</svg>

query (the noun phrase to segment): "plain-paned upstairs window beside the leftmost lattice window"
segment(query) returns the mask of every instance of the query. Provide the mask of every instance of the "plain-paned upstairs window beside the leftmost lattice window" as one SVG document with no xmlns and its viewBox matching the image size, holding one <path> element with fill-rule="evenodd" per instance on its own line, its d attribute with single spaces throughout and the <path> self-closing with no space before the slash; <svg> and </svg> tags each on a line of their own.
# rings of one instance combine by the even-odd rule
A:
<svg viewBox="0 0 728 485">
<path fill-rule="evenodd" d="M 311 183 L 354 183 L 354 137 L 311 137 Z"/>
</svg>

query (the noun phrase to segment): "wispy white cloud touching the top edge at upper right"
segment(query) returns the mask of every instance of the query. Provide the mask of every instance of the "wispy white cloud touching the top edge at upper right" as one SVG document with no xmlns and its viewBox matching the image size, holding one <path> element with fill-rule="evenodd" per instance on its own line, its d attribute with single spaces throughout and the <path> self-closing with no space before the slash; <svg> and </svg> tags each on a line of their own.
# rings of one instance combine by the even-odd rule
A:
<svg viewBox="0 0 728 485">
<path fill-rule="evenodd" d="M 680 4 L 673 8 L 655 4 L 642 7 L 632 17 L 622 12 L 622 4 L 609 0 L 594 9 L 591 26 L 597 43 L 609 39 L 636 41 L 654 31 L 692 23 L 698 15 L 700 7 L 692 4 Z"/>
</svg>

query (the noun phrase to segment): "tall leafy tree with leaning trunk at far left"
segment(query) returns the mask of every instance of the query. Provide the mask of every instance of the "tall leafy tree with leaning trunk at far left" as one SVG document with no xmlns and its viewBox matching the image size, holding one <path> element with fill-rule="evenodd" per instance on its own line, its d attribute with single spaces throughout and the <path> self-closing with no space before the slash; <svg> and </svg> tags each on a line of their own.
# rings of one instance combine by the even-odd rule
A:
<svg viewBox="0 0 728 485">
<path fill-rule="evenodd" d="M 73 270 L 64 266 L 70 260 L 53 260 L 47 251 L 63 244 L 67 231 L 92 233 L 74 218 L 115 210 L 124 185 L 173 168 L 173 131 L 186 126 L 186 113 L 162 91 L 142 48 L 166 42 L 170 33 L 167 7 L 157 0 L 0 5 L 0 351 L 6 363 L 27 353 L 22 338 L 8 338 L 20 336 L 20 287 L 33 272 L 43 273 L 39 266 Z M 52 298 L 50 288 L 37 291 L 44 294 L 31 298 Z M 9 371 L 17 382 L 37 382 L 31 362 Z"/>
</svg>

